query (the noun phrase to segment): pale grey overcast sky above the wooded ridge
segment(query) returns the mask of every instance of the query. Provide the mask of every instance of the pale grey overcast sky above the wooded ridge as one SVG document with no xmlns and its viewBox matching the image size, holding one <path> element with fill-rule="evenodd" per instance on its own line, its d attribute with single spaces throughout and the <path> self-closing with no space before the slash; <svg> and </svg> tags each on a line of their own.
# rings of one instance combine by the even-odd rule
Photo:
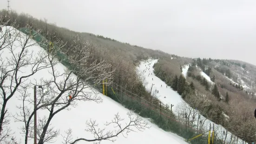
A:
<svg viewBox="0 0 256 144">
<path fill-rule="evenodd" d="M 10 6 L 132 45 L 256 65 L 256 0 L 10 0 Z"/>
</svg>

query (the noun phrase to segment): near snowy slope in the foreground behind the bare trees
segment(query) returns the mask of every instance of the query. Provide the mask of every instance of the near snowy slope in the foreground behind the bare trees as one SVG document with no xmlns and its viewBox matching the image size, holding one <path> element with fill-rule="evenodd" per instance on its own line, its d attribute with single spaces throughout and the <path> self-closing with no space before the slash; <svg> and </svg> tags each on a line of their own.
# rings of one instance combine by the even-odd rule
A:
<svg viewBox="0 0 256 144">
<path fill-rule="evenodd" d="M 47 52 L 41 48 L 38 45 L 33 45 L 35 44 L 35 41 L 29 39 L 28 40 L 28 46 L 25 49 L 22 49 L 22 47 L 20 46 L 20 44 L 25 44 L 24 39 L 22 38 L 27 38 L 27 36 L 23 33 L 20 33 L 18 30 L 13 29 L 12 27 L 3 27 L 3 32 L 6 31 L 6 28 L 8 29 L 8 31 L 10 31 L 10 33 L 12 34 L 11 39 L 9 39 L 11 41 L 11 43 L 13 43 L 13 47 L 10 48 L 10 45 L 6 45 L 5 48 L 1 49 L 1 63 L 0 65 L 8 65 L 10 64 L 10 59 L 13 58 L 17 58 L 17 56 L 19 56 L 20 53 L 22 53 L 22 50 L 26 51 L 27 54 L 30 55 L 22 55 L 22 59 L 26 59 L 26 60 L 32 60 L 32 61 L 37 61 L 40 58 L 44 57 L 45 59 L 43 59 L 42 61 L 45 64 L 49 64 L 49 60 L 47 59 Z M 1 33 L 0 33 L 1 34 Z M 15 36 L 20 36 L 20 37 L 14 37 Z M 17 38 L 17 39 L 16 39 Z M 15 40 L 13 40 L 15 39 Z M 1 39 L 1 42 L 2 39 Z M 8 60 L 9 59 L 9 60 Z M 26 61 L 25 60 L 25 61 Z M 56 59 L 52 59 L 53 61 Z M 15 65 L 14 65 L 15 66 Z M 40 66 L 44 66 L 44 64 L 38 64 L 36 65 L 38 67 Z M 33 67 L 33 62 L 31 63 L 31 65 L 26 65 L 24 67 L 22 67 L 22 69 L 20 69 L 20 71 L 17 73 L 17 77 L 21 78 L 21 76 L 25 76 L 28 75 L 34 71 Z M 1 75 L 3 76 L 3 73 L 6 72 L 7 70 L 12 69 L 12 66 L 7 67 L 7 69 L 3 70 L 1 69 Z M 26 90 L 26 93 L 22 93 L 23 91 L 19 90 L 17 91 L 14 96 L 12 98 L 10 98 L 10 100 L 7 103 L 7 109 L 8 112 L 11 113 L 13 116 L 17 117 L 17 114 L 22 114 L 22 111 L 20 109 L 18 109 L 16 107 L 16 105 L 23 105 L 23 101 L 19 100 L 19 98 L 22 98 L 21 96 L 24 96 L 26 94 L 27 99 L 31 99 L 33 101 L 33 84 L 37 84 L 40 85 L 42 84 L 44 81 L 42 81 L 42 79 L 44 79 L 45 81 L 51 81 L 54 79 L 53 74 L 57 74 L 59 75 L 58 77 L 58 82 L 61 82 L 65 77 L 67 77 L 66 75 L 67 68 L 62 65 L 61 63 L 56 63 L 56 65 L 53 65 L 53 67 L 47 67 L 45 69 L 41 69 L 38 72 L 34 73 L 32 76 L 28 77 L 28 79 L 24 80 L 24 84 L 28 84 L 30 85 L 29 88 Z M 2 77 L 1 77 L 2 78 Z M 71 74 L 71 77 L 69 78 L 69 81 L 73 81 L 76 80 L 77 77 L 74 74 Z M 10 85 L 10 80 L 5 81 L 4 85 Z M 60 87 L 62 87 L 63 85 L 59 85 Z M 87 85 L 87 87 L 89 87 Z M 58 90 L 58 88 L 55 86 L 54 89 L 49 89 L 49 86 L 43 86 L 44 91 L 42 93 L 42 95 L 44 95 L 44 93 L 47 92 L 52 92 L 52 95 L 49 95 L 49 97 L 51 98 L 55 98 L 56 94 L 58 96 L 58 94 L 60 93 L 60 91 Z M 38 88 L 39 89 L 39 88 Z M 12 91 L 12 89 L 10 88 L 6 88 L 5 89 L 6 92 Z M 113 118 L 115 118 L 115 114 L 119 114 L 120 118 L 124 118 L 124 121 L 121 121 L 120 123 L 122 124 L 121 127 L 125 126 L 125 123 L 129 123 L 130 122 L 130 118 L 128 117 L 127 113 L 129 112 L 128 109 L 125 109 L 122 105 L 116 103 L 115 101 L 113 101 L 111 98 L 108 98 L 106 96 L 104 96 L 103 94 L 96 92 L 96 94 L 94 94 L 92 91 L 96 92 L 96 90 L 91 89 L 91 88 L 85 88 L 83 89 L 83 92 L 80 92 L 80 94 L 85 93 L 86 95 L 92 93 L 91 96 L 88 96 L 88 98 L 95 98 L 95 101 L 97 100 L 102 100 L 102 103 L 96 103 L 94 101 L 77 101 L 76 102 L 76 106 L 75 107 L 69 107 L 69 111 L 68 110 L 63 110 L 59 113 L 56 114 L 56 116 L 51 120 L 50 124 L 52 127 L 54 127 L 54 130 L 59 130 L 59 135 L 55 136 L 55 138 L 53 139 L 52 142 L 54 142 L 55 144 L 62 144 L 63 142 L 63 136 L 65 135 L 65 131 L 67 131 L 69 128 L 72 129 L 72 136 L 74 137 L 74 139 L 76 138 L 86 138 L 86 139 L 94 139 L 97 138 L 94 137 L 94 135 L 89 132 L 89 131 L 85 131 L 85 129 L 87 128 L 88 125 L 86 125 L 86 121 L 90 121 L 90 119 L 92 120 L 96 120 L 97 123 L 99 124 L 98 128 L 103 129 L 104 127 L 106 127 L 105 132 L 106 131 L 118 131 L 118 127 L 117 124 L 110 124 L 109 126 L 105 126 L 103 125 L 106 121 L 110 122 Z M 37 92 L 37 95 L 41 95 L 42 91 L 40 91 L 40 89 Z M 2 94 L 3 91 L 0 91 L 0 93 Z M 55 93 L 55 94 L 54 94 Z M 61 98 L 62 103 L 64 103 L 66 101 L 66 96 L 67 96 L 68 92 L 65 92 L 63 98 Z M 48 98 L 49 98 L 48 97 Z M 24 97 L 23 97 L 24 98 Z M 96 100 L 97 99 L 97 100 Z M 42 101 L 46 101 L 49 99 L 41 99 Z M 33 103 L 30 103 L 29 101 L 24 101 L 25 102 L 25 106 L 27 106 L 27 108 L 31 108 L 33 110 Z M 44 110 L 42 110 L 44 108 Z M 56 107 L 55 111 L 58 109 L 59 107 Z M 46 107 L 42 107 L 42 109 L 38 110 L 38 120 L 41 119 L 42 121 L 38 121 L 38 127 L 42 126 L 41 124 L 44 124 L 44 117 L 48 118 L 49 116 L 49 111 L 47 110 Z M 50 110 L 50 108 L 48 108 Z M 21 112 L 21 113 L 20 113 Z M 131 118 L 136 118 L 136 115 L 131 116 Z M 15 132 L 14 135 L 17 139 L 17 141 L 21 141 L 21 143 L 24 143 L 24 134 L 20 134 L 22 132 L 22 130 L 20 129 L 22 126 L 24 126 L 24 122 L 21 121 L 17 121 L 17 119 L 15 120 L 13 117 L 10 118 L 10 128 Z M 138 119 L 140 119 L 140 117 L 138 117 Z M 46 120 L 46 119 L 45 119 Z M 175 136 L 175 134 L 171 134 L 169 132 L 163 131 L 162 129 L 159 129 L 158 126 L 156 126 L 155 124 L 151 124 L 147 119 L 142 118 L 141 120 L 144 120 L 145 122 L 142 123 L 144 124 L 144 126 L 146 126 L 146 124 L 148 123 L 149 126 L 151 126 L 151 128 L 147 129 L 145 128 L 144 131 L 138 131 L 135 127 L 131 127 L 134 131 L 137 132 L 129 132 L 129 136 L 127 136 L 127 134 L 125 133 L 125 131 L 122 134 L 119 135 L 119 137 L 114 137 L 114 139 L 116 139 L 115 143 L 116 144 L 164 144 L 166 142 L 171 143 L 171 144 L 186 144 L 183 140 L 181 140 L 180 137 Z M 92 121 L 93 124 L 93 121 Z M 32 126 L 32 124 L 31 124 Z M 115 127 L 115 128 L 114 128 Z M 92 128 L 92 127 L 91 127 Z M 93 130 L 92 130 L 93 131 Z M 57 132 L 58 133 L 58 132 Z M 115 132 L 114 132 L 115 133 Z M 29 135 L 33 135 L 33 131 L 29 132 Z M 127 136 L 127 138 L 126 138 Z M 39 136 L 38 136 L 39 138 Z M 73 140 L 74 140 L 73 139 Z M 29 144 L 33 144 L 33 139 L 29 138 Z M 88 142 L 85 141 L 79 141 L 76 144 L 88 144 Z M 101 142 L 101 144 L 113 144 L 112 141 L 109 140 L 103 140 Z"/>
</svg>

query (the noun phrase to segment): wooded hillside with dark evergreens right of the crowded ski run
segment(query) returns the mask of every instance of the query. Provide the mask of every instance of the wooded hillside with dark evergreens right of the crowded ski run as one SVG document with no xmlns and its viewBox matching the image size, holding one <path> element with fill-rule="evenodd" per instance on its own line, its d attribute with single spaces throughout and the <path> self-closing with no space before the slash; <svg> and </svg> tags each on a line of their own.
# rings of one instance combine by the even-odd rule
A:
<svg viewBox="0 0 256 144">
<path fill-rule="evenodd" d="M 253 133 L 256 132 L 256 128 L 253 125 L 256 122 L 253 112 L 256 102 L 252 100 L 255 98 L 254 93 L 244 90 L 242 84 L 230 82 L 229 79 L 235 77 L 235 73 L 231 66 L 227 65 L 232 62 L 200 58 L 190 59 L 186 63 L 178 61 L 183 60 L 181 58 L 159 59 L 154 65 L 154 73 L 206 118 L 223 125 L 241 139 L 246 141 L 255 139 Z M 216 66 L 219 62 L 222 62 L 221 65 Z M 189 65 L 186 78 L 182 75 L 182 69 L 179 68 L 183 65 Z M 246 67 L 245 64 L 240 63 L 230 65 Z M 214 83 L 205 79 L 200 72 L 207 74 Z M 229 116 L 228 119 L 223 112 Z"/>
</svg>

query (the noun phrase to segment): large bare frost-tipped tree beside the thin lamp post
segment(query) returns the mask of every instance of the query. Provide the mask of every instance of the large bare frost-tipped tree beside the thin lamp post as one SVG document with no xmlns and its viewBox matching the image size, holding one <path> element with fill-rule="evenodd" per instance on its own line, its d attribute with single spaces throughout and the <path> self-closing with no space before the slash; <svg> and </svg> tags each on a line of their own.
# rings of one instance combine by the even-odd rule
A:
<svg viewBox="0 0 256 144">
<path fill-rule="evenodd" d="M 103 59 L 96 59 L 94 61 L 88 62 L 89 57 L 91 56 L 91 50 L 89 48 L 89 43 L 81 43 L 79 39 L 74 39 L 72 44 L 72 54 L 68 57 L 64 57 L 60 59 L 60 48 L 65 44 L 61 42 L 61 40 L 57 40 L 57 44 L 55 45 L 51 51 L 41 52 L 39 55 L 39 59 L 44 58 L 44 61 L 40 63 L 38 67 L 41 65 L 48 66 L 48 69 L 44 72 L 48 73 L 46 75 L 51 75 L 51 78 L 40 79 L 38 81 L 33 82 L 34 85 L 44 85 L 47 89 L 46 92 L 38 92 L 37 97 L 37 110 L 46 110 L 48 111 L 47 117 L 39 118 L 39 125 L 37 125 L 37 135 L 38 135 L 38 144 L 44 144 L 45 142 L 54 142 L 54 137 L 58 137 L 59 131 L 55 130 L 53 126 L 51 126 L 51 120 L 54 116 L 56 116 L 60 111 L 69 110 L 70 107 L 76 106 L 78 101 L 94 101 L 96 103 L 101 103 L 102 98 L 95 95 L 98 92 L 93 88 L 93 85 L 100 85 L 102 80 L 108 79 L 108 81 L 112 80 L 113 71 L 109 71 L 110 64 L 107 64 Z M 41 43 L 40 45 L 46 45 L 47 43 Z M 52 46 L 52 45 L 49 45 Z M 61 53 L 65 54 L 65 53 Z M 58 63 L 63 62 L 66 63 L 67 68 L 62 70 L 57 70 Z M 18 106 L 21 110 L 20 113 L 17 113 L 15 116 L 16 121 L 20 121 L 24 123 L 22 127 L 23 133 L 25 134 L 25 144 L 28 143 L 29 138 L 33 138 L 33 115 L 36 111 L 34 111 L 31 107 L 33 104 L 33 98 L 30 98 L 30 93 L 28 92 L 29 86 L 31 85 L 23 85 L 23 89 L 20 90 L 20 100 L 22 101 L 22 105 Z M 88 90 L 89 89 L 89 90 Z M 69 92 L 72 92 L 72 98 L 67 98 Z M 114 118 L 114 121 L 110 124 L 119 124 L 119 130 L 116 134 L 112 132 L 104 133 L 104 129 L 98 132 L 98 138 L 87 140 L 85 138 L 80 138 L 74 140 L 72 144 L 76 143 L 79 140 L 85 141 L 101 141 L 101 140 L 110 140 L 112 137 L 117 137 L 120 133 L 124 131 L 133 131 L 132 127 L 137 128 L 138 130 L 143 130 L 147 128 L 147 123 L 144 122 L 141 118 L 132 118 L 131 113 L 128 113 L 130 118 L 130 122 L 125 126 L 121 127 L 120 121 L 121 119 L 118 115 Z M 88 131 L 93 132 L 93 127 L 97 126 L 95 121 L 90 121 L 87 123 L 90 127 Z M 67 131 L 69 137 L 67 137 L 66 143 L 70 142 L 71 130 Z"/>
</svg>

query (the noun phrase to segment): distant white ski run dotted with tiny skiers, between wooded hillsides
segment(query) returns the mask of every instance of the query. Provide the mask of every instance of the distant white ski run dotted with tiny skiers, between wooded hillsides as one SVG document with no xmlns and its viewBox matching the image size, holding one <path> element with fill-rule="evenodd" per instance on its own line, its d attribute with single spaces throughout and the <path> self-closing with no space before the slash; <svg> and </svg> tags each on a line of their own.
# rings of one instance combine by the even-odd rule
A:
<svg viewBox="0 0 256 144">
<path fill-rule="evenodd" d="M 153 87 L 152 87 L 152 92 L 154 92 L 153 94 L 156 95 L 156 97 L 164 105 L 168 104 L 170 107 L 171 107 L 171 105 L 174 105 L 172 110 L 176 109 L 176 111 L 173 111 L 173 112 L 177 115 L 177 113 L 178 113 L 178 110 L 176 108 L 177 105 L 182 104 L 182 103 L 183 104 L 185 103 L 187 106 L 189 106 L 189 105 L 181 98 L 181 96 L 176 91 L 173 91 L 170 86 L 167 86 L 167 88 L 166 88 L 165 82 L 163 82 L 161 79 L 159 79 L 157 76 L 154 75 L 153 65 L 157 61 L 158 61 L 158 59 L 148 59 L 146 61 L 142 61 L 140 63 L 140 65 L 138 66 L 138 71 L 144 74 L 144 78 L 145 78 L 144 86 L 147 88 L 147 90 L 150 91 L 151 86 L 153 84 Z M 144 70 L 145 70 L 145 72 L 143 72 Z M 185 70 L 183 74 L 186 75 L 186 72 L 187 72 L 187 70 Z M 156 92 L 156 90 L 158 91 L 158 93 Z M 197 119 L 197 118 L 198 118 L 198 115 L 195 116 L 195 119 Z M 200 118 L 206 119 L 202 115 L 200 115 Z M 192 118 L 190 118 L 190 119 L 192 119 Z M 212 121 L 206 119 L 203 123 L 203 128 L 205 130 L 209 130 L 210 124 L 214 124 L 214 123 Z M 217 134 L 220 139 L 225 138 L 225 136 L 222 135 L 223 131 L 226 131 L 226 129 L 222 125 L 215 124 L 215 135 Z M 228 142 L 228 144 L 236 144 L 236 140 L 234 141 L 234 137 L 231 138 L 230 132 L 228 132 L 226 142 Z M 234 142 L 234 143 L 232 143 L 232 142 Z M 237 144 L 245 144 L 245 143 L 243 142 L 243 140 L 238 139 Z"/>
</svg>

